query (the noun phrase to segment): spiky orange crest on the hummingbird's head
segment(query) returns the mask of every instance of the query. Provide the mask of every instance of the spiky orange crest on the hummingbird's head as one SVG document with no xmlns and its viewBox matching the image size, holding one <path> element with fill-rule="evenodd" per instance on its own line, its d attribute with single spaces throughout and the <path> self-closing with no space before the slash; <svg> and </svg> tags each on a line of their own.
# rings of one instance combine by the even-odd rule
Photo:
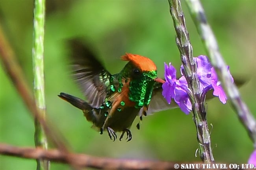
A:
<svg viewBox="0 0 256 170">
<path fill-rule="evenodd" d="M 122 60 L 132 62 L 141 71 L 153 71 L 156 70 L 155 63 L 147 57 L 143 57 L 137 54 L 126 53 L 121 57 Z"/>
</svg>

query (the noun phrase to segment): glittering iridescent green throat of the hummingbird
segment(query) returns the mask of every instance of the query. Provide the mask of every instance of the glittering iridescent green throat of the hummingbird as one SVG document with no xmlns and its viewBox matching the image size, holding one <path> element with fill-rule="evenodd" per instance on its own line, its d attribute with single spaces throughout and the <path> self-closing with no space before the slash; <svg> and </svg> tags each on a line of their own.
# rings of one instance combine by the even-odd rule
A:
<svg viewBox="0 0 256 170">
<path fill-rule="evenodd" d="M 135 108 L 149 104 L 156 77 L 157 71 L 145 71 L 142 72 L 141 78 L 130 81 L 129 99 L 135 102 Z"/>
</svg>

